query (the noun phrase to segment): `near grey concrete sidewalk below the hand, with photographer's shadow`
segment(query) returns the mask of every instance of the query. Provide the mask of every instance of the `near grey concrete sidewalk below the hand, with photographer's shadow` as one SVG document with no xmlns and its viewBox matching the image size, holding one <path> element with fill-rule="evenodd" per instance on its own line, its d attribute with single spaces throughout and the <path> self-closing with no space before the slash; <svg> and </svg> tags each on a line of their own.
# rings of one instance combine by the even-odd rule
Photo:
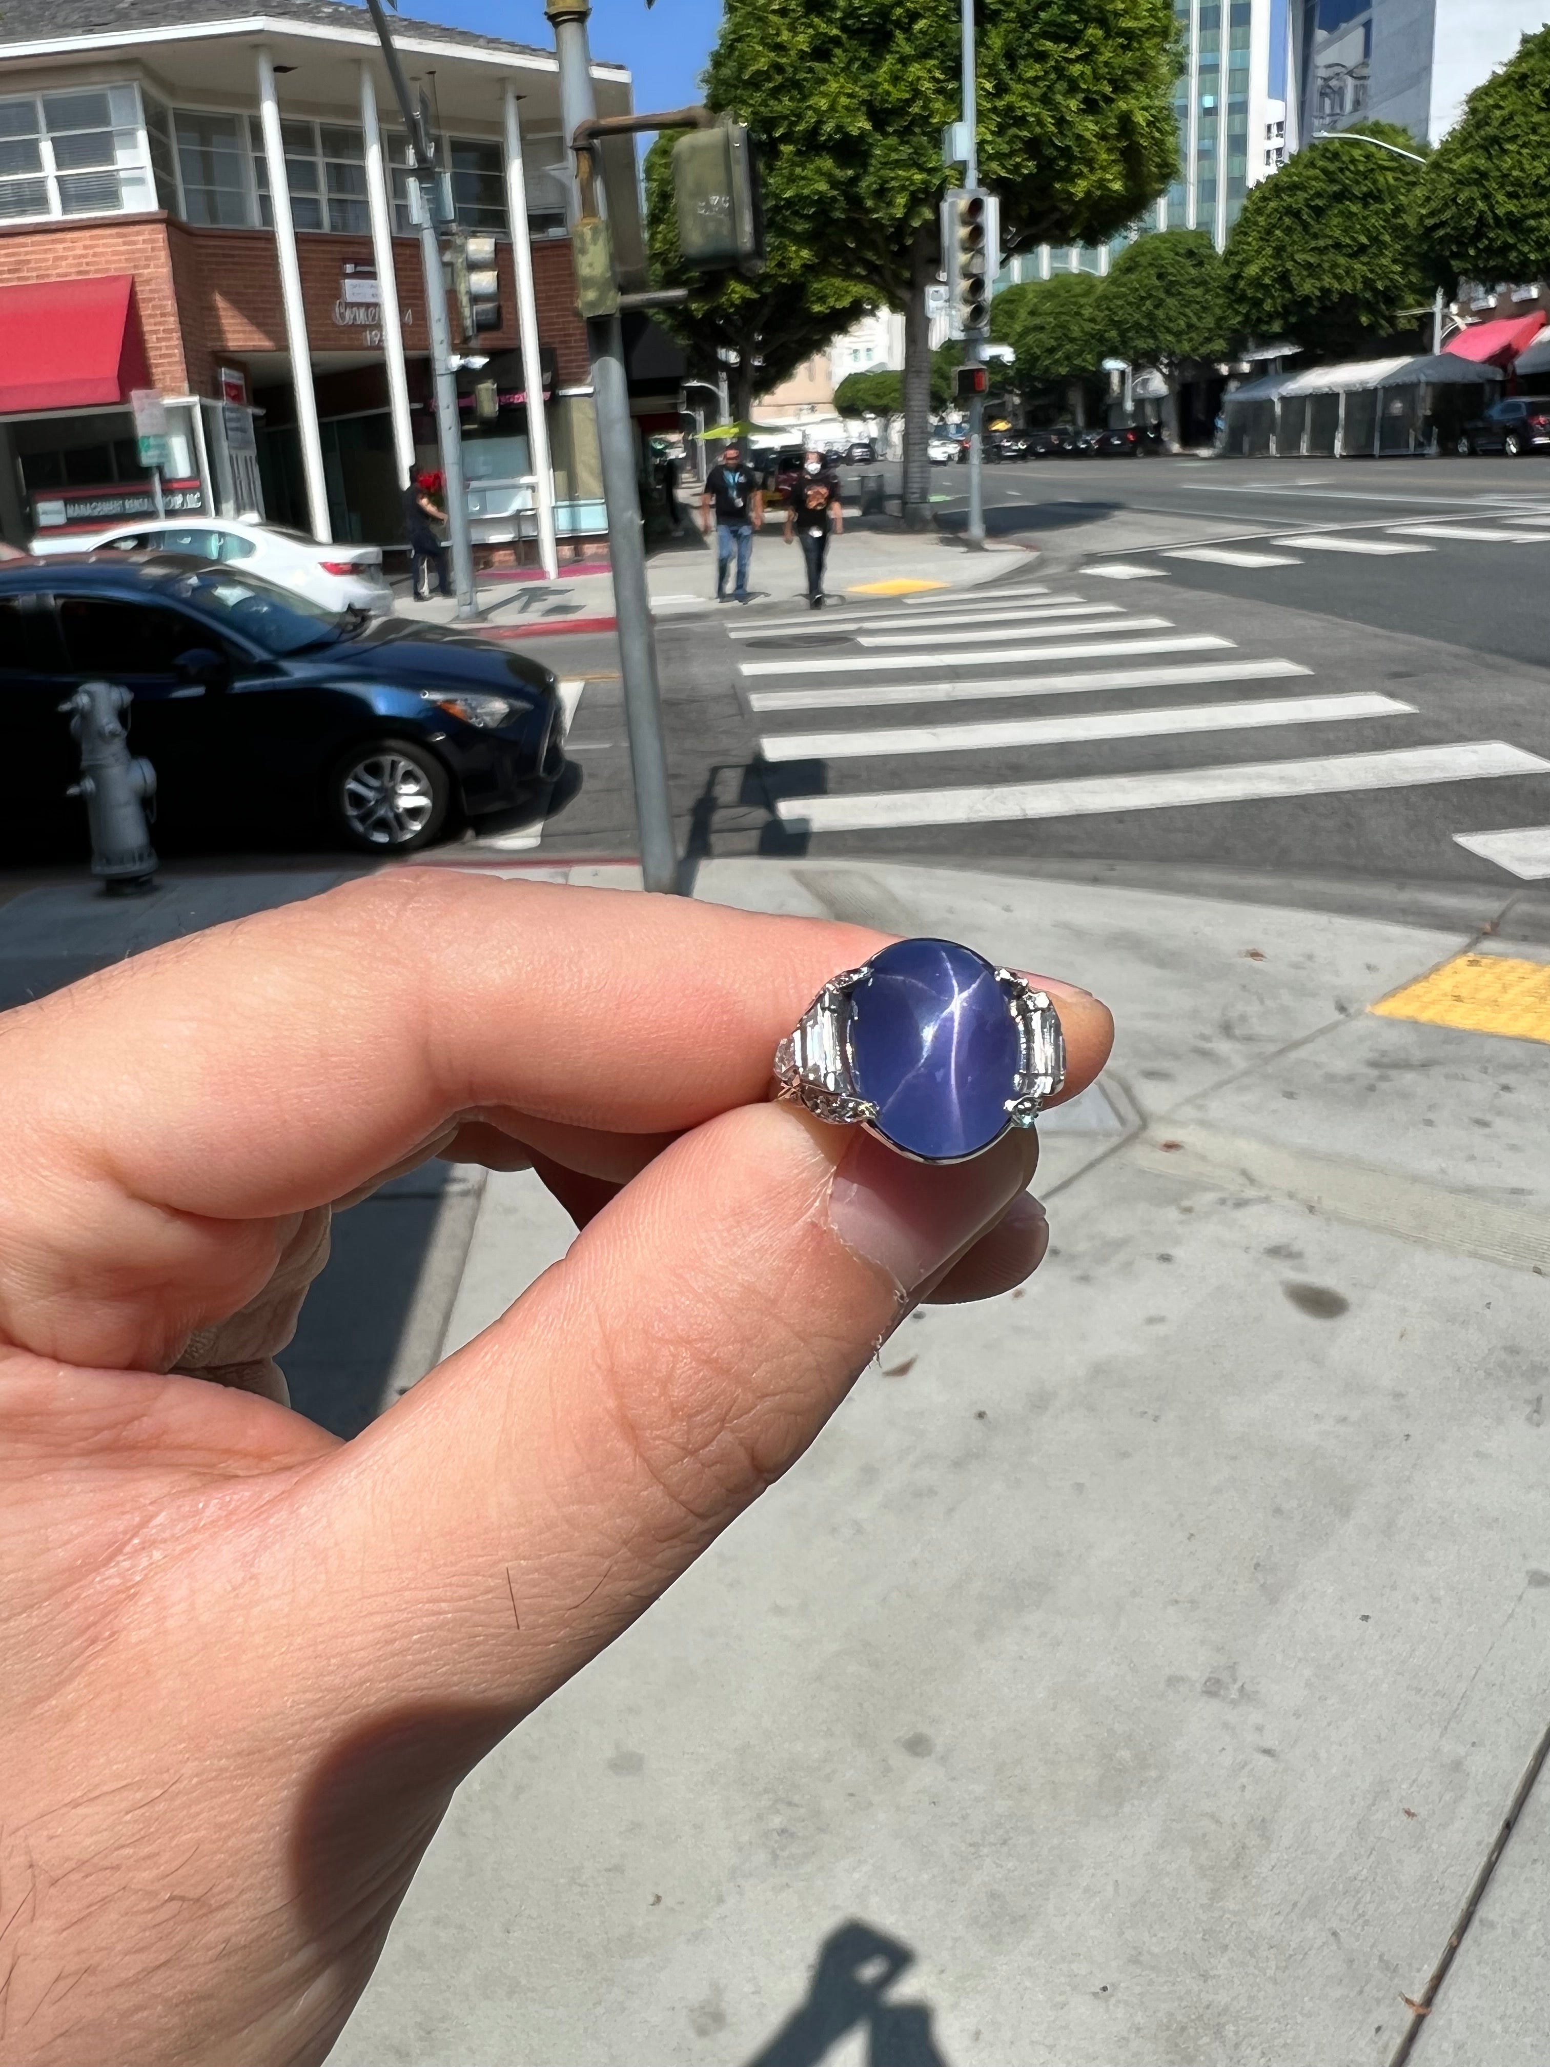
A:
<svg viewBox="0 0 1550 2067">
<path fill-rule="evenodd" d="M 1058 971 L 1116 1056 L 1042 1127 L 1040 1275 L 907 1321 L 479 1767 L 335 2067 L 1542 2067 L 1542 1792 L 1465 1910 L 1550 1722 L 1550 949 L 878 864 L 699 895 Z M 1515 1034 L 1372 1011 L 1465 951 L 1395 1009 Z M 380 1403 L 568 1242 L 521 1174 L 432 1217 Z"/>
</svg>

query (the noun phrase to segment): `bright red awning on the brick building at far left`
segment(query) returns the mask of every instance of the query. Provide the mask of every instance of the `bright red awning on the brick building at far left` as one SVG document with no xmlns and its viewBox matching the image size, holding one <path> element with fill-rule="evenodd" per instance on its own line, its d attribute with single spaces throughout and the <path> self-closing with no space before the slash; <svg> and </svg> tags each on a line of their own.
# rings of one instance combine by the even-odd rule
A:
<svg viewBox="0 0 1550 2067">
<path fill-rule="evenodd" d="M 0 415 L 89 409 L 151 387 L 134 275 L 0 287 Z"/>
</svg>

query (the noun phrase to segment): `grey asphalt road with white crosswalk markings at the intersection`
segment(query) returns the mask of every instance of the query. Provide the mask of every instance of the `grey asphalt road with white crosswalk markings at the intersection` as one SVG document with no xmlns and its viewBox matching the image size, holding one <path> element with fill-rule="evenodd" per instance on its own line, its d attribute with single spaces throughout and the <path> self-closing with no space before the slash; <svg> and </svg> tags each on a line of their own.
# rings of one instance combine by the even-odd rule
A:
<svg viewBox="0 0 1550 2067">
<path fill-rule="evenodd" d="M 990 529 L 1037 558 L 971 597 L 659 624 L 690 858 L 1294 881 L 1366 909 L 1550 881 L 1550 467 L 1052 461 L 986 486 Z M 630 852 L 595 666 L 585 788 L 544 856 Z M 1540 831 L 1492 845 L 1509 829 Z"/>
</svg>

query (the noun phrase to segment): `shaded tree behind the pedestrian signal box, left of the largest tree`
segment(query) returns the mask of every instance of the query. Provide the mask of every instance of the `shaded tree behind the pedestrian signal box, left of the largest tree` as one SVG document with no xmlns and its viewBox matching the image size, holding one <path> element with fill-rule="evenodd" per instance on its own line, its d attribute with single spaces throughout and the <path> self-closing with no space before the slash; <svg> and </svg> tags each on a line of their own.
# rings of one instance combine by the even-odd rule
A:
<svg viewBox="0 0 1550 2067">
<path fill-rule="evenodd" d="M 684 269 L 678 254 L 678 213 L 672 190 L 674 134 L 657 136 L 645 159 L 651 279 L 657 287 L 688 287 L 680 308 L 657 310 L 701 380 L 715 380 L 717 351 L 736 351 L 732 413 L 746 424 L 754 395 L 777 387 L 820 351 L 831 337 L 876 306 L 876 296 L 854 279 L 825 273 L 812 252 L 779 225 L 767 238 L 765 271 L 703 277 Z"/>
</svg>

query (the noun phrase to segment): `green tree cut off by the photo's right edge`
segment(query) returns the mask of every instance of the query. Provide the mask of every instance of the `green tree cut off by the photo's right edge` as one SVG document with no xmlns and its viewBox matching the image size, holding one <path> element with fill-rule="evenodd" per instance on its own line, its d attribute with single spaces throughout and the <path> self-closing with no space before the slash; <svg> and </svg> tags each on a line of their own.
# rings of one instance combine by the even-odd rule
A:
<svg viewBox="0 0 1550 2067">
<path fill-rule="evenodd" d="M 1414 221 L 1438 275 L 1550 275 L 1550 29 L 1469 95 L 1416 182 Z"/>
</svg>

